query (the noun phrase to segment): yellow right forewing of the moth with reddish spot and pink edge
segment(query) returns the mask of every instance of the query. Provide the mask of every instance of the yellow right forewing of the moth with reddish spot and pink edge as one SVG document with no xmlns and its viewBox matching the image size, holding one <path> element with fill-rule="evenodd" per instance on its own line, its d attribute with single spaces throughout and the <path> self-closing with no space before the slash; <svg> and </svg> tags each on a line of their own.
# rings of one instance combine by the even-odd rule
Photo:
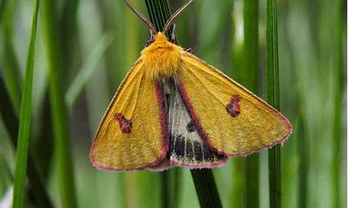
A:
<svg viewBox="0 0 348 208">
<path fill-rule="evenodd" d="M 200 137 L 217 153 L 248 155 L 292 132 L 274 107 L 191 53 L 183 55 L 179 91 Z"/>
</svg>

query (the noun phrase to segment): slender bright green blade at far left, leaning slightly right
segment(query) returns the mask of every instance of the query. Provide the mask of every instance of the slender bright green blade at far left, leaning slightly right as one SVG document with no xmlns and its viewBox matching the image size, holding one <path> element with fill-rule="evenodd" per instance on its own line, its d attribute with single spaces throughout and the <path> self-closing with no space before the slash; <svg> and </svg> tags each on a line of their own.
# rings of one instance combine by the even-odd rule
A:
<svg viewBox="0 0 348 208">
<path fill-rule="evenodd" d="M 13 189 L 13 207 L 19 208 L 24 205 L 24 192 L 26 184 L 26 160 L 28 157 L 30 120 L 31 120 L 31 95 L 33 89 L 33 68 L 35 58 L 35 37 L 38 21 L 39 1 L 36 0 L 33 9 L 33 20 L 31 24 L 31 38 L 28 55 L 26 57 L 26 72 L 24 89 L 20 108 L 18 144 L 15 164 L 15 184 Z"/>
</svg>

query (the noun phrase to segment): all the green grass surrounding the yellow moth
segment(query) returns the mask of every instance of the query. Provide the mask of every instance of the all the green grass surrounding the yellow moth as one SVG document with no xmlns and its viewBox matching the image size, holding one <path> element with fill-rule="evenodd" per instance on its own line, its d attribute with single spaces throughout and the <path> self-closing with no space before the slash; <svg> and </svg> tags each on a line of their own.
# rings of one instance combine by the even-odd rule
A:
<svg viewBox="0 0 348 208">
<path fill-rule="evenodd" d="M 132 0 L 157 28 L 184 2 Z M 347 207 L 345 1 L 193 1 L 177 19 L 184 48 L 264 94 L 294 125 L 283 146 L 203 173 L 90 165 L 104 110 L 150 38 L 123 1 L 40 2 L 32 107 L 20 110 L 30 96 L 24 69 L 34 5 L 0 1 L 0 203 L 21 170 L 26 183 L 16 181 L 15 197 L 24 193 L 26 207 Z M 18 137 L 27 143 L 19 139 L 17 148 Z M 212 197 L 218 191 L 220 200 Z"/>
</svg>

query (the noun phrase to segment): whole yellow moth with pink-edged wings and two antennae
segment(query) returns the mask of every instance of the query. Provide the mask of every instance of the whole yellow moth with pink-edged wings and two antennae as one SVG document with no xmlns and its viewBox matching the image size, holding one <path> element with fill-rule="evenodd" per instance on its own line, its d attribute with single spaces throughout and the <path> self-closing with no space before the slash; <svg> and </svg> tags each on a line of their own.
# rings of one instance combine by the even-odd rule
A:
<svg viewBox="0 0 348 208">
<path fill-rule="evenodd" d="M 104 171 L 162 171 L 172 166 L 213 168 L 229 157 L 282 144 L 290 122 L 234 80 L 168 40 L 164 30 L 127 0 L 151 31 L 141 56 L 118 87 L 90 148 Z"/>
</svg>

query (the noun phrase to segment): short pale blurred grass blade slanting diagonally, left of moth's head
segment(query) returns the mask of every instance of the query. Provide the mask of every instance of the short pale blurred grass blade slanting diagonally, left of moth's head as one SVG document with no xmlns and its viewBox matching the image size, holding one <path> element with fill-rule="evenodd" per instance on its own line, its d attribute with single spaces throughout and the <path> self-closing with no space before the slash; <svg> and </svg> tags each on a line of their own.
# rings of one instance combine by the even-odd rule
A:
<svg viewBox="0 0 348 208">
<path fill-rule="evenodd" d="M 74 102 L 77 100 L 79 94 L 84 88 L 84 85 L 86 85 L 88 78 L 90 78 L 93 71 L 97 69 L 98 62 L 102 58 L 102 55 L 104 54 L 106 49 L 108 49 L 110 44 L 113 42 L 113 39 L 114 37 L 111 33 L 105 33 L 99 40 L 99 42 L 97 42 L 95 48 L 88 55 L 86 62 L 81 67 L 81 70 L 77 74 L 77 77 L 74 79 L 67 93 L 65 94 L 65 101 L 70 110 L 72 109 Z"/>
</svg>

